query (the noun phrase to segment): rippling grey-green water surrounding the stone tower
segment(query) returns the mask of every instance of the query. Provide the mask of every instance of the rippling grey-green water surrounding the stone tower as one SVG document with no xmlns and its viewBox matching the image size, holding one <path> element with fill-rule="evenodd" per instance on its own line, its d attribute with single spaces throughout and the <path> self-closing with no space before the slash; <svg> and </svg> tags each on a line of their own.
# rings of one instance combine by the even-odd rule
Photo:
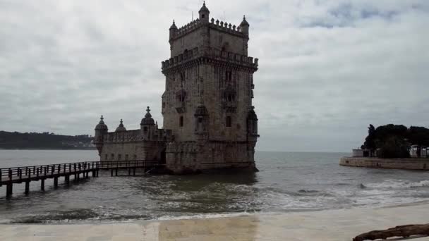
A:
<svg viewBox="0 0 429 241">
<path fill-rule="evenodd" d="M 257 152 L 258 173 L 111 177 L 0 187 L 0 223 L 93 223 L 387 206 L 429 200 L 429 173 L 339 166 L 347 153 Z M 0 150 L 0 168 L 97 161 L 96 151 Z"/>
</svg>

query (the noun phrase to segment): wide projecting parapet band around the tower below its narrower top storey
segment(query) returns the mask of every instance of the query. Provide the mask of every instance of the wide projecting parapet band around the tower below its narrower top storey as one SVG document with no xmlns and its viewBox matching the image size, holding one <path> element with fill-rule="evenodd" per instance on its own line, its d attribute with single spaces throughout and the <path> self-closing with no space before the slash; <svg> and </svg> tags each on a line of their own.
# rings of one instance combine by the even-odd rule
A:
<svg viewBox="0 0 429 241">
<path fill-rule="evenodd" d="M 258 58 L 212 48 L 210 48 L 210 51 L 206 54 L 201 53 L 198 48 L 186 51 L 183 54 L 179 54 L 173 58 L 167 59 L 166 61 L 162 61 L 161 68 L 164 72 L 176 66 L 181 66 L 183 63 L 191 63 L 192 61 L 197 61 L 202 58 L 210 58 L 212 60 L 224 61 L 227 63 L 234 63 L 240 66 L 258 69 Z"/>
</svg>

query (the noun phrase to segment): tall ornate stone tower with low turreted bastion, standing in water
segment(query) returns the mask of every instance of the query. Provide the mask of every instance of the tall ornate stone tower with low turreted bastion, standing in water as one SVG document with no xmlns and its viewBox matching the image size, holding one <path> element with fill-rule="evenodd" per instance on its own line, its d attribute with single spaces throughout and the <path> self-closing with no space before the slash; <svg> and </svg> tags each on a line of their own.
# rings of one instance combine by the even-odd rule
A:
<svg viewBox="0 0 429 241">
<path fill-rule="evenodd" d="M 169 28 L 171 57 L 162 61 L 163 128 L 147 107 L 140 130 L 126 130 L 122 120 L 108 132 L 103 118 L 95 128 L 100 161 L 148 160 L 169 173 L 219 168 L 255 168 L 258 117 L 253 73 L 258 58 L 248 56 L 249 24 L 210 19 L 203 4 L 199 18 Z"/>
</svg>

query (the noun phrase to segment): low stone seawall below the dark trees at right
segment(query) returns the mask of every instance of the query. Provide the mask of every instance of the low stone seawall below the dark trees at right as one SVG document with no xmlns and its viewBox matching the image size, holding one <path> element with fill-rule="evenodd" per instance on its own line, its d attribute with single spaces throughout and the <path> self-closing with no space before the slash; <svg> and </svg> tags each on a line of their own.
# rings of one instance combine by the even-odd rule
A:
<svg viewBox="0 0 429 241">
<path fill-rule="evenodd" d="M 429 171 L 429 159 L 380 159 L 375 157 L 342 157 L 341 166 Z"/>
</svg>

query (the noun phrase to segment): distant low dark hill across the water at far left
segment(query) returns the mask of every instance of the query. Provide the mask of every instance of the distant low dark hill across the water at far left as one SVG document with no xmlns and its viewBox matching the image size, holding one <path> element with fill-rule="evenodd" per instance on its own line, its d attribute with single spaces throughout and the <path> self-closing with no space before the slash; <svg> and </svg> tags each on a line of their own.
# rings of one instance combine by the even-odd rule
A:
<svg viewBox="0 0 429 241">
<path fill-rule="evenodd" d="M 0 149 L 95 149 L 89 135 L 0 131 Z"/>
</svg>

